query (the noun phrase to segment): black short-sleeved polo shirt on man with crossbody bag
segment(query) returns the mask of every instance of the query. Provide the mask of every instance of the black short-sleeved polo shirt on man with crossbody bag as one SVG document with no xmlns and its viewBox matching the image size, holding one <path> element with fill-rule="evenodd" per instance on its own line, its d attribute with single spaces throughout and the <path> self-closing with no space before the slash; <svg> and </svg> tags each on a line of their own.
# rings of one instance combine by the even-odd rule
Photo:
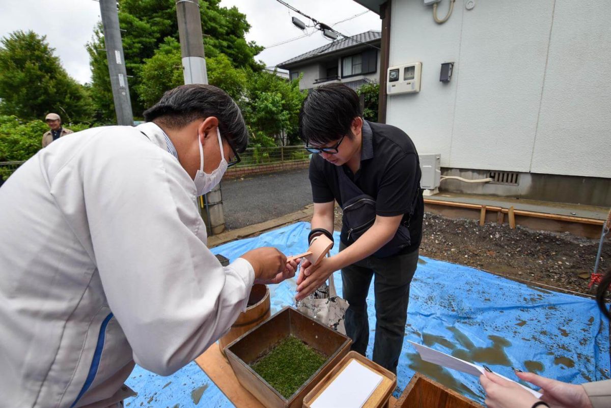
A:
<svg viewBox="0 0 611 408">
<path fill-rule="evenodd" d="M 337 201 L 342 205 L 337 170 L 320 155 L 312 155 L 310 183 L 315 203 Z M 348 166 L 342 170 L 359 188 L 376 200 L 376 214 L 392 217 L 403 214 L 411 245 L 403 253 L 416 250 L 422 239 L 424 202 L 420 190 L 420 161 L 409 136 L 395 126 L 364 121 L 360 168 L 353 175 Z M 410 213 L 411 216 L 410 216 Z M 347 239 L 342 233 L 342 241 Z"/>
</svg>

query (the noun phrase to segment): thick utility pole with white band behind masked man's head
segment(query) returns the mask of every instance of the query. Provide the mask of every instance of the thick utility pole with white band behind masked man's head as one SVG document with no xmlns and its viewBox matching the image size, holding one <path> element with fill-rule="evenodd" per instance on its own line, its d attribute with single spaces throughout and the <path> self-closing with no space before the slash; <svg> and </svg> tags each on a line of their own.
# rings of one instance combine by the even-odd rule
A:
<svg viewBox="0 0 611 408">
<path fill-rule="evenodd" d="M 207 84 L 206 59 L 203 54 L 202 18 L 197 0 L 177 0 L 178 37 L 183 60 L 185 84 Z M 210 235 L 225 230 L 221 184 L 200 198 L 200 214 Z"/>
</svg>

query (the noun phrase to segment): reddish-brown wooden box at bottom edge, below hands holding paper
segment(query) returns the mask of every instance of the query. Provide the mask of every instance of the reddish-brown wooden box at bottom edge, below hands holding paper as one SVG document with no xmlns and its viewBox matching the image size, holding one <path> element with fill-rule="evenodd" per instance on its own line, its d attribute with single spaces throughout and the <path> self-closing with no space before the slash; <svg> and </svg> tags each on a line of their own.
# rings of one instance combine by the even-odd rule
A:
<svg viewBox="0 0 611 408">
<path fill-rule="evenodd" d="M 439 382 L 415 373 L 395 408 L 484 408 Z"/>
</svg>

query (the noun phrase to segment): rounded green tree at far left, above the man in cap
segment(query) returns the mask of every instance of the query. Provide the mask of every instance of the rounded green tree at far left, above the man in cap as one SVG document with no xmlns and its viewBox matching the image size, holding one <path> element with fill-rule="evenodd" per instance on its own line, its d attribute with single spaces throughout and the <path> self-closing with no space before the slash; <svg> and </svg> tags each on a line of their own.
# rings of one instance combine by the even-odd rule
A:
<svg viewBox="0 0 611 408">
<path fill-rule="evenodd" d="M 44 35 L 15 31 L 0 43 L 0 114 L 35 119 L 57 112 L 65 122 L 91 117 L 89 92 L 70 78 Z"/>
</svg>

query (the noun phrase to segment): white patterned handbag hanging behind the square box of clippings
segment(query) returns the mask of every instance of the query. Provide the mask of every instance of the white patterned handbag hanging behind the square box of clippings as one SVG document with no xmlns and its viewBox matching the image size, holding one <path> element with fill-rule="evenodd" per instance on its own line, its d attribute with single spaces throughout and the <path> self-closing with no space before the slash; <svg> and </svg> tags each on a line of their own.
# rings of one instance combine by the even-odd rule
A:
<svg viewBox="0 0 611 408">
<path fill-rule="evenodd" d="M 318 289 L 310 293 L 299 302 L 297 310 L 306 316 L 316 319 L 331 329 L 346 335 L 344 319 L 348 302 L 337 296 L 333 274 L 329 276 L 329 286 L 323 283 Z"/>
</svg>

